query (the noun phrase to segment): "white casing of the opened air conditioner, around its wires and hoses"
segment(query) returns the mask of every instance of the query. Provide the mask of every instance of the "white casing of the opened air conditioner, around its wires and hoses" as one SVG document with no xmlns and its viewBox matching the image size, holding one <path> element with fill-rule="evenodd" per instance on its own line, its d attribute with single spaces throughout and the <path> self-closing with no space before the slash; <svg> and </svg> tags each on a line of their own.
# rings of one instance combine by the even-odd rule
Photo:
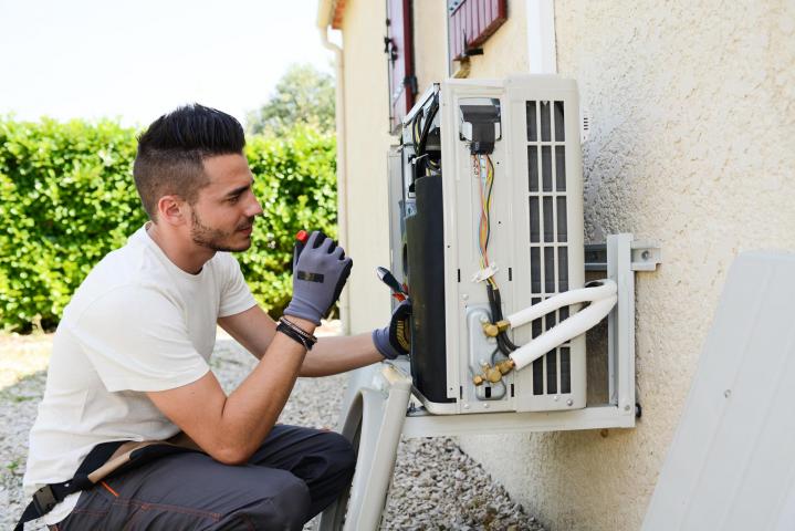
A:
<svg viewBox="0 0 795 531">
<path fill-rule="evenodd" d="M 501 137 L 491 154 L 495 177 L 489 257 L 499 268 L 495 279 L 502 293 L 503 313 L 526 308 L 565 289 L 582 288 L 584 283 L 583 174 L 576 83 L 557 75 L 442 83 L 439 123 L 444 198 L 447 396 L 456 402 L 426 400 L 425 405 L 436 414 L 583 408 L 586 400 L 584 336 L 556 348 L 535 365 L 509 374 L 504 398 L 479 399 L 477 396 L 469 353 L 473 334 L 467 323 L 473 322 L 473 310 L 488 309 L 488 296 L 483 283 L 470 280 L 480 270 L 477 236 L 480 191 L 469 145 L 460 136 L 459 105 L 468 98 L 500 102 Z M 530 112 L 531 106 L 534 114 Z M 556 118 L 559 122 L 556 106 L 563 111 L 563 124 L 556 123 Z M 529 116 L 535 119 L 533 127 L 529 127 Z M 531 138 L 531 129 L 534 138 Z M 531 176 L 536 179 L 536 186 L 531 186 Z M 562 282 L 562 278 L 566 281 Z M 551 327 L 557 319 L 556 313 L 543 323 L 513 331 L 514 343 L 527 343 L 540 329 Z M 565 356 L 568 377 L 562 374 Z M 481 354 L 474 357 L 475 365 L 478 361 L 489 362 L 488 356 Z"/>
</svg>

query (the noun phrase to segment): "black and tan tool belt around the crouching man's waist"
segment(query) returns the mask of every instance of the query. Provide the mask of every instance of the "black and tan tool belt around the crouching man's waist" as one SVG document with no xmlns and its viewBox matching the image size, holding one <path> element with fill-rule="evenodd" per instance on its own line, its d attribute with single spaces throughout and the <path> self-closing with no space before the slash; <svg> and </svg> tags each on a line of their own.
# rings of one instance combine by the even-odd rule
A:
<svg viewBox="0 0 795 531">
<path fill-rule="evenodd" d="M 88 490 L 111 476 L 125 472 L 164 456 L 185 451 L 202 451 L 193 440 L 179 433 L 167 440 L 113 440 L 96 445 L 83 459 L 74 477 L 60 483 L 45 485 L 33 493 L 14 531 L 41 518 L 69 494 Z"/>
</svg>

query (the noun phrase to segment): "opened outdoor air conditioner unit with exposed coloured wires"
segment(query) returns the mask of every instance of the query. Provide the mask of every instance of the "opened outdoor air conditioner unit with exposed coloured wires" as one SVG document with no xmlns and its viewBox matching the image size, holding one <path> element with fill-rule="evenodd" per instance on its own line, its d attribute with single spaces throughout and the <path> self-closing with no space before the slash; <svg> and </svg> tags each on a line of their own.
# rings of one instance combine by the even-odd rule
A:
<svg viewBox="0 0 795 531">
<path fill-rule="evenodd" d="M 430 413 L 585 407 L 582 332 L 526 366 L 510 357 L 543 347 L 585 299 L 529 320 L 534 308 L 592 290 L 579 122 L 576 83 L 554 75 L 446 81 L 405 117 L 390 155 L 391 268 L 412 300 L 411 378 Z"/>
</svg>

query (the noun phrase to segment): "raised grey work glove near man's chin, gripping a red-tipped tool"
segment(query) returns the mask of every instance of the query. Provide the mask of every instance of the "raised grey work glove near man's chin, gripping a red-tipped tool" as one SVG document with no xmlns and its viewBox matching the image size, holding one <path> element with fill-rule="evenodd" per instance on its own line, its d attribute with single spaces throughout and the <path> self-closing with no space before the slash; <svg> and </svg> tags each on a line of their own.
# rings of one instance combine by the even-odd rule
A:
<svg viewBox="0 0 795 531">
<path fill-rule="evenodd" d="M 321 317 L 339 299 L 353 266 L 343 248 L 323 232 L 312 232 L 306 244 L 297 242 L 293 251 L 293 300 L 284 315 L 321 324 Z"/>
</svg>

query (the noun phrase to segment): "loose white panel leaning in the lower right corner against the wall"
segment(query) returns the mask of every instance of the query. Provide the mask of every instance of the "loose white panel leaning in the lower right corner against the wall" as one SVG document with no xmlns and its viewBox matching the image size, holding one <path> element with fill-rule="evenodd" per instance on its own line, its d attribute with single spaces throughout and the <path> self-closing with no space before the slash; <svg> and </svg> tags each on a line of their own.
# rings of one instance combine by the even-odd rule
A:
<svg viewBox="0 0 795 531">
<path fill-rule="evenodd" d="M 795 529 L 795 256 L 732 266 L 644 530 Z"/>
</svg>

